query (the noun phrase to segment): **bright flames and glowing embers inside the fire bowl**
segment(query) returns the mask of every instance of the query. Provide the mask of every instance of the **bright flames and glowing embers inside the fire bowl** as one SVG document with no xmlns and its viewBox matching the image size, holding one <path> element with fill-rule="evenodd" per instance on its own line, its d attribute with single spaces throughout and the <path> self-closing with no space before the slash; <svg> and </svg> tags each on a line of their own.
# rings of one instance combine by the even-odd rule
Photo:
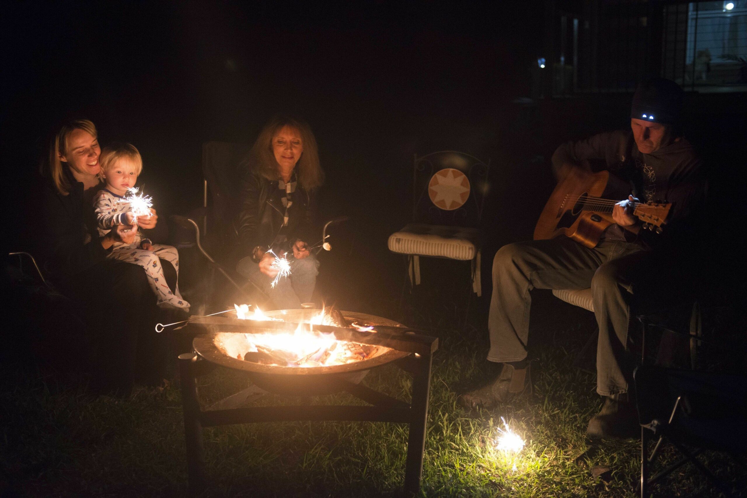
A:
<svg viewBox="0 0 747 498">
<path fill-rule="evenodd" d="M 259 308 L 249 313 L 247 305 L 236 305 L 242 320 L 278 321 Z M 362 361 L 389 350 L 383 346 L 368 346 L 337 340 L 335 334 L 314 331 L 314 325 L 348 326 L 332 308 L 320 310 L 306 323 L 298 324 L 293 332 L 263 332 L 258 334 L 217 334 L 215 344 L 226 355 L 244 361 L 278 367 L 329 367 Z"/>
</svg>

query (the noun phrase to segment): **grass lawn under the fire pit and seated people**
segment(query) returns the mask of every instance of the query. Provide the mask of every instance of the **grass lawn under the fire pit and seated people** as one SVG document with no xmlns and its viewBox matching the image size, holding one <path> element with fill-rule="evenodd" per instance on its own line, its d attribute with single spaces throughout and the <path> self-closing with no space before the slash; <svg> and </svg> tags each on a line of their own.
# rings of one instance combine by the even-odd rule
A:
<svg viewBox="0 0 747 498">
<path fill-rule="evenodd" d="M 455 390 L 489 376 L 486 337 L 432 329 L 441 339 L 433 364 L 422 496 L 624 497 L 633 495 L 639 443 L 589 446 L 586 423 L 601 405 L 595 378 L 571 363 L 593 330 L 590 314 L 542 297 L 533 312 L 539 369 L 535 393 L 495 411 L 468 412 Z M 550 307 L 550 308 L 548 308 Z M 534 309 L 534 308 L 533 308 Z M 553 313 L 547 310 L 554 310 Z M 448 310 L 441 310 L 448 314 Z M 415 317 L 413 320 L 417 320 Z M 480 327 L 481 329 L 482 327 Z M 55 378 L 3 367 L 0 496 L 176 497 L 187 495 L 179 387 L 140 388 L 130 399 L 91 396 Z M 465 379 L 467 379 L 465 381 Z M 249 385 L 219 369 L 200 379 L 203 402 Z M 365 384 L 406 399 L 410 379 L 394 367 Z M 355 402 L 338 394 L 309 399 L 264 396 L 258 404 Z M 500 417 L 524 437 L 520 455 L 495 449 Z M 211 488 L 205 497 L 397 496 L 403 482 L 406 426 L 383 423 L 262 423 L 205 429 Z M 671 450 L 663 461 L 672 461 Z M 735 488 L 747 473 L 725 456 L 704 461 Z M 605 465 L 604 479 L 592 467 Z M 661 496 L 718 496 L 690 466 L 655 488 Z"/>
</svg>

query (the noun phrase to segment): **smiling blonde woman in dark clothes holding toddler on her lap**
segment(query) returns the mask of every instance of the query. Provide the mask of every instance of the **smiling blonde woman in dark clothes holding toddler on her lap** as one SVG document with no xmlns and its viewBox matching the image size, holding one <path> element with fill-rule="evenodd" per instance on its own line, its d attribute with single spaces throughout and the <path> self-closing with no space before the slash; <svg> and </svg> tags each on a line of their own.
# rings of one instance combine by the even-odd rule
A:
<svg viewBox="0 0 747 498">
<path fill-rule="evenodd" d="M 147 384 L 162 379 L 164 345 L 152 332 L 158 308 L 145 273 L 107 258 L 116 243 L 133 242 L 133 226 L 117 225 L 103 236 L 96 230 L 91 200 L 99 186 L 100 153 L 96 126 L 87 119 L 67 122 L 52 137 L 36 197 L 37 255 L 49 281 L 81 305 L 95 387 L 126 396 L 136 373 Z M 146 229 L 157 221 L 155 211 L 137 218 Z"/>
</svg>

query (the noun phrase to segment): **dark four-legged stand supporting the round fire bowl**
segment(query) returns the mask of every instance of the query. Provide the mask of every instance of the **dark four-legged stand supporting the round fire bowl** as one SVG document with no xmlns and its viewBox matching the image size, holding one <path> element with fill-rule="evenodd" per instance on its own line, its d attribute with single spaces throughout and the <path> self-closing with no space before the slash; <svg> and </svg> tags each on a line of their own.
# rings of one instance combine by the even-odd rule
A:
<svg viewBox="0 0 747 498">
<path fill-rule="evenodd" d="M 423 473 L 431 363 L 433 352 L 438 349 L 438 339 L 417 334 L 406 328 L 392 330 L 394 327 L 385 327 L 384 329 L 386 330 L 377 328 L 378 332 L 376 333 L 353 331 L 352 338 L 355 342 L 385 345 L 396 349 L 398 352 L 407 353 L 403 358 L 391 363 L 412 375 L 412 399 L 409 403 L 339 376 L 329 376 L 329 379 L 324 382 L 332 384 L 334 390 L 347 391 L 347 393 L 368 402 L 371 406 L 297 405 L 205 409 L 199 404 L 196 379 L 211 372 L 219 365 L 202 358 L 195 352 L 179 355 L 190 491 L 199 492 L 205 488 L 203 427 L 255 422 L 350 420 L 406 423 L 409 425 L 404 491 L 408 496 L 417 494 Z M 348 336 L 351 333 L 347 329 L 341 330 L 344 330 L 345 335 Z M 195 343 L 197 343 L 197 340 L 199 338 L 195 340 Z M 222 402 L 217 402 L 211 406 L 221 408 L 230 406 L 231 397 L 229 396 Z M 242 401 L 244 399 L 246 397 L 241 397 Z"/>
</svg>

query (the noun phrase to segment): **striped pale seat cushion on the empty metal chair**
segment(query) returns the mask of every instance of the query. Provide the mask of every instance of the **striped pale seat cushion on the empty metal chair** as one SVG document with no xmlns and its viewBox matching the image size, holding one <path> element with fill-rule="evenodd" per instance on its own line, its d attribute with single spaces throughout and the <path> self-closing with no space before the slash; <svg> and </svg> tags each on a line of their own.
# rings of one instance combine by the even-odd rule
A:
<svg viewBox="0 0 747 498">
<path fill-rule="evenodd" d="M 389 236 L 391 252 L 469 261 L 479 246 L 477 228 L 409 223 Z"/>
</svg>

